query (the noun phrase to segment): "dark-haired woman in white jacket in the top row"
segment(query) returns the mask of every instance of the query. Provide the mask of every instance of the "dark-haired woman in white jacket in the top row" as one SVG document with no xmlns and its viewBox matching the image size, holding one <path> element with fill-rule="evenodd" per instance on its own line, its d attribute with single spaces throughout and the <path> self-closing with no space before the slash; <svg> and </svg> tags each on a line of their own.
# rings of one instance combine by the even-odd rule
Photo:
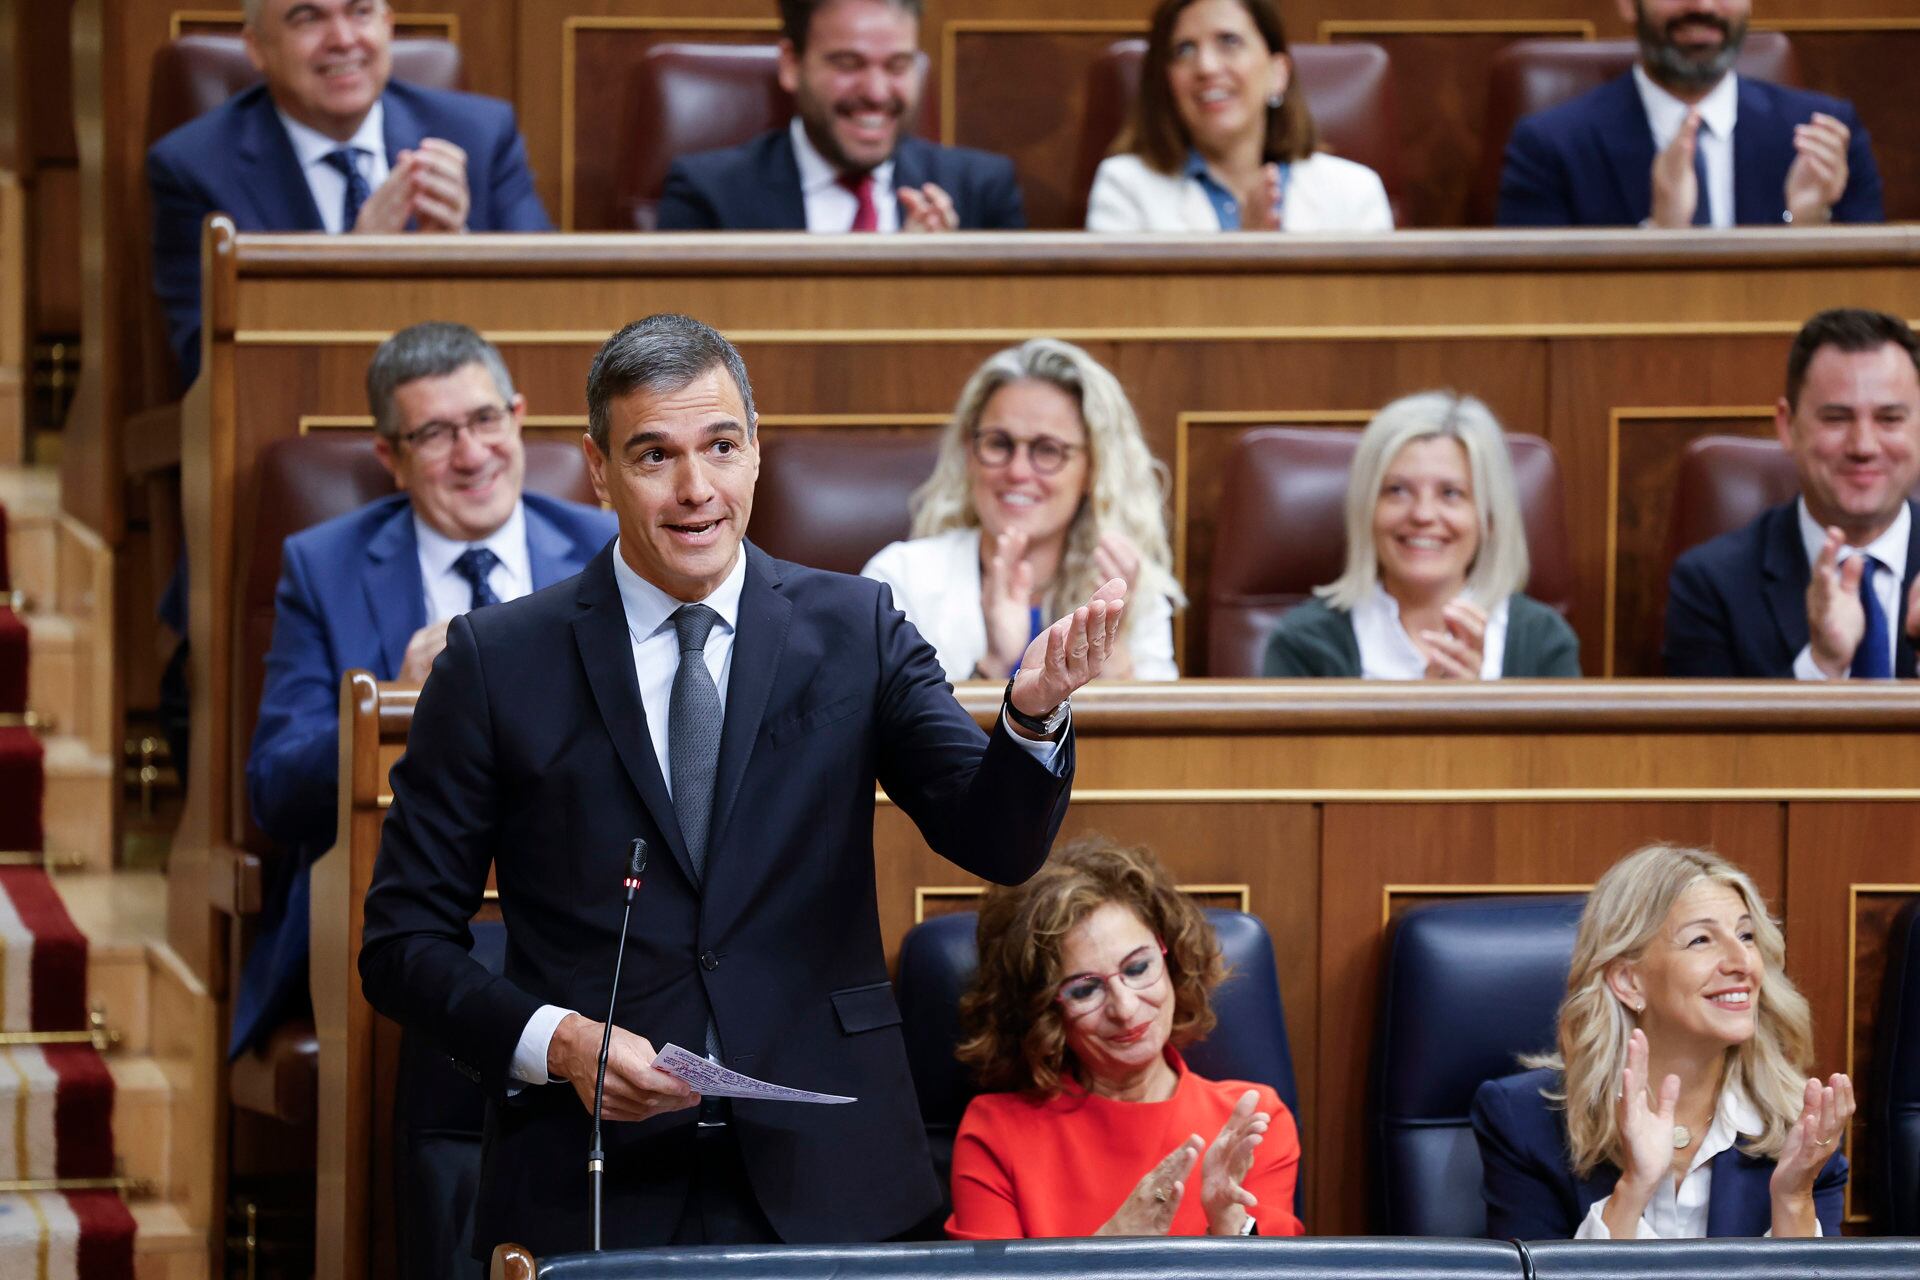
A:
<svg viewBox="0 0 1920 1280">
<path fill-rule="evenodd" d="M 1275 0 L 1162 0 L 1087 230 L 1392 230 L 1380 175 L 1319 148 Z"/>
</svg>

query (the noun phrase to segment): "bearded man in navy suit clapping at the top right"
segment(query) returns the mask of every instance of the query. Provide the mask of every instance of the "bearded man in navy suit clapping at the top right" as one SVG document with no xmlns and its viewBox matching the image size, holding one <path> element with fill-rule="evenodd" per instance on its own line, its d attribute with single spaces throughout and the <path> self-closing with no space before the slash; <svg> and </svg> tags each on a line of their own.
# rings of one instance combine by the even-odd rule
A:
<svg viewBox="0 0 1920 1280">
<path fill-rule="evenodd" d="M 1528 115 L 1507 140 L 1501 226 L 1878 223 L 1853 106 L 1734 73 L 1749 0 L 1619 0 L 1640 63 Z"/>
</svg>

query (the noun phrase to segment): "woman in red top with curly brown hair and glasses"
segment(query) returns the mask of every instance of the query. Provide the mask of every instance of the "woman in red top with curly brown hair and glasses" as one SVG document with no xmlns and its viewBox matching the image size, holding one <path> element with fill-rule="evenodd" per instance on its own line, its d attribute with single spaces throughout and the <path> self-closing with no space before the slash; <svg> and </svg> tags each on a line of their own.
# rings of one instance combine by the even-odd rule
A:
<svg viewBox="0 0 1920 1280">
<path fill-rule="evenodd" d="M 958 1054 L 1000 1092 L 960 1121 L 947 1234 L 1298 1234 L 1292 1113 L 1179 1054 L 1213 1029 L 1221 977 L 1213 929 L 1144 848 L 1081 839 L 989 889 Z"/>
</svg>

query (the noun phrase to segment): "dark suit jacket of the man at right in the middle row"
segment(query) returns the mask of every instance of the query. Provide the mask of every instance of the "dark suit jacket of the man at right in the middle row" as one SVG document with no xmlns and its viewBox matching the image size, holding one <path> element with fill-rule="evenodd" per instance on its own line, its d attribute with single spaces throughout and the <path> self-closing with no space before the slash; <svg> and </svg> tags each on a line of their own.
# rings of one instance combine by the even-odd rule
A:
<svg viewBox="0 0 1920 1280">
<path fill-rule="evenodd" d="M 1797 501 L 1797 499 L 1795 499 Z M 1897 601 L 1907 599 L 1920 568 L 1920 505 L 1907 503 L 1912 533 Z M 1793 658 L 1807 647 L 1807 543 L 1795 503 L 1761 512 L 1743 530 L 1688 549 L 1667 580 L 1667 639 L 1661 645 L 1668 676 L 1793 677 Z M 1893 674 L 1914 676 L 1914 647 L 1895 629 Z"/>
</svg>

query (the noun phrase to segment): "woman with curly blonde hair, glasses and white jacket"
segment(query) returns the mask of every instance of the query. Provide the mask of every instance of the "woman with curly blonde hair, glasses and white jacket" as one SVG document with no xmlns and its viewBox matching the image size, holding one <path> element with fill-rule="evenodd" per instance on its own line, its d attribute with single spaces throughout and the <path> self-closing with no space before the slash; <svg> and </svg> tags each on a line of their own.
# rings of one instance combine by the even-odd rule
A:
<svg viewBox="0 0 1920 1280">
<path fill-rule="evenodd" d="M 1127 393 L 1096 359 L 1035 338 L 998 351 L 960 391 L 933 476 L 914 493 L 912 541 L 866 568 L 947 670 L 1006 679 L 1027 643 L 1127 581 L 1110 679 L 1175 679 L 1167 472 L 1146 451 Z"/>
</svg>

